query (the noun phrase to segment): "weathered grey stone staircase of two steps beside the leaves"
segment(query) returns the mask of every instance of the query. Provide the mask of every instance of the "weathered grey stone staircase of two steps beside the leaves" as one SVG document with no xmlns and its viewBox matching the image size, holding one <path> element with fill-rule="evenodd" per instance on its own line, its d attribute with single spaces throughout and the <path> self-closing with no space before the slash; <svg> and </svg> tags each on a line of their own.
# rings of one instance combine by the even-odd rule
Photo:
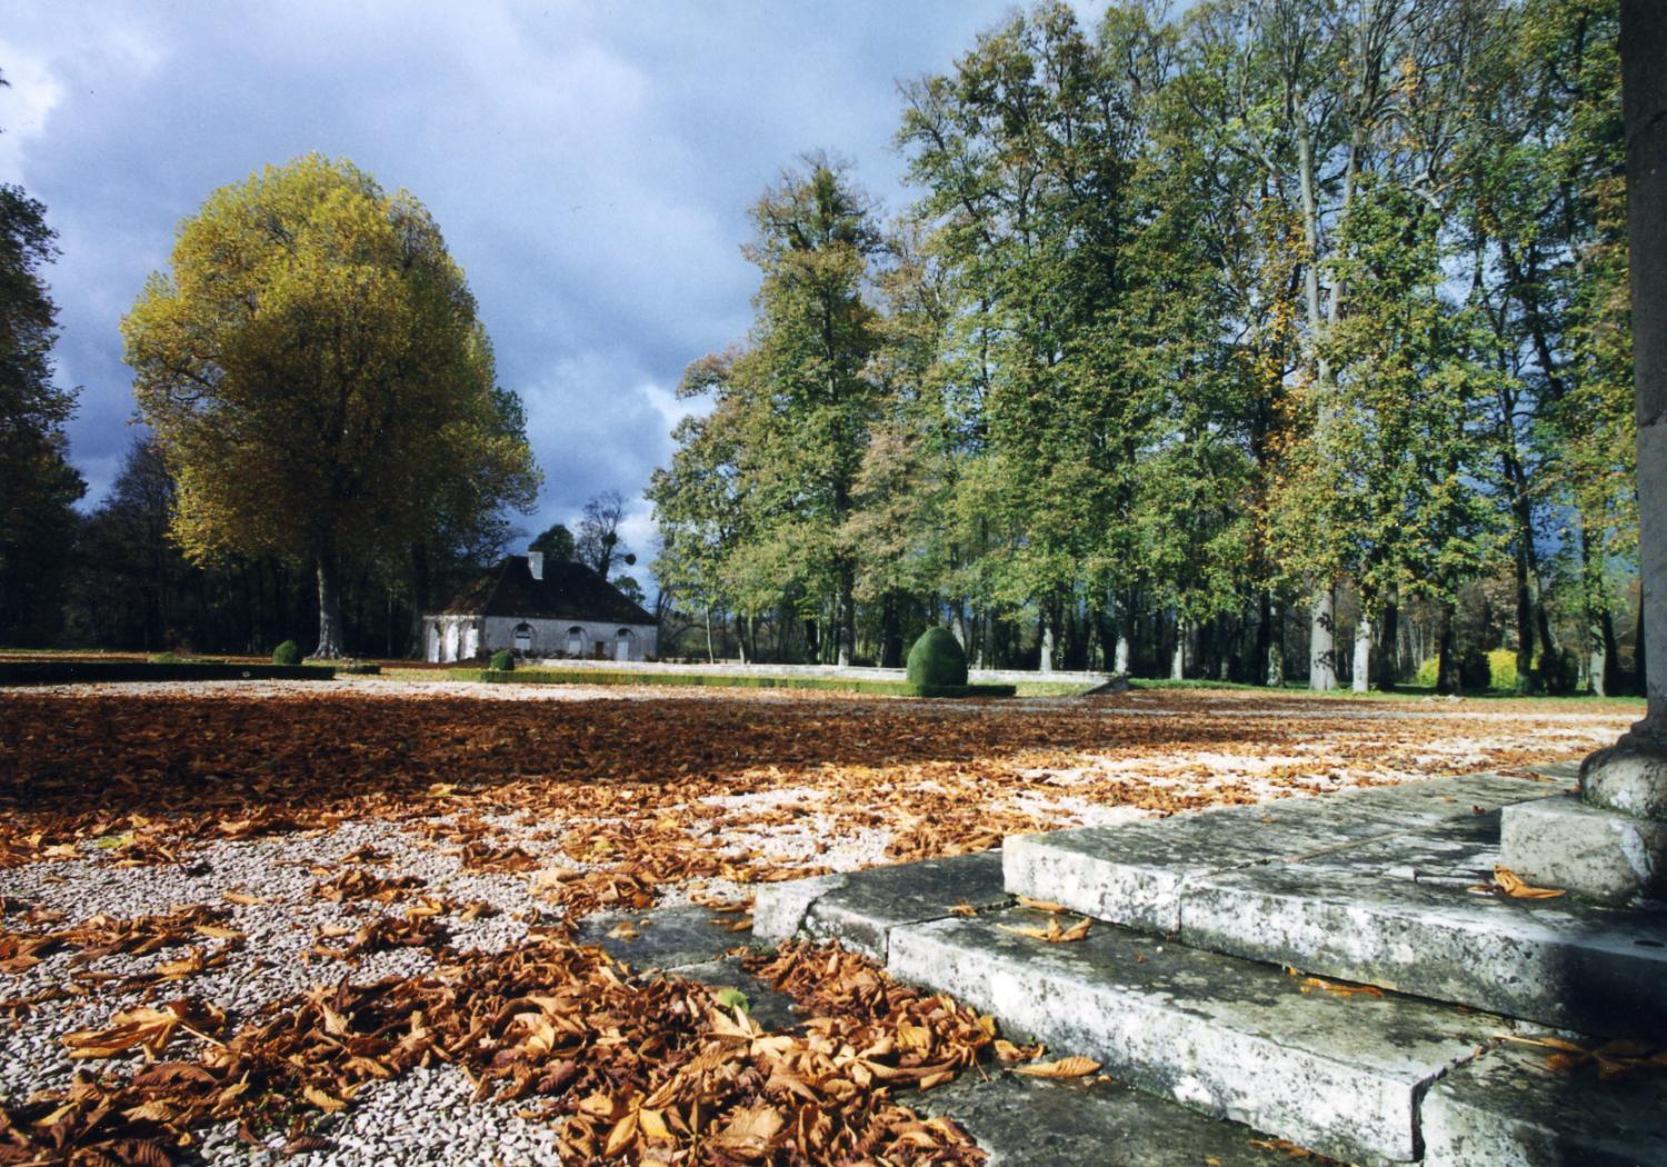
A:
<svg viewBox="0 0 1667 1167">
<path fill-rule="evenodd" d="M 1667 1072 L 1600 1082 L 1532 1044 L 1667 1042 L 1667 912 L 1475 890 L 1499 810 L 1569 782 L 1444 779 L 1014 837 L 768 887 L 753 927 L 839 939 L 1094 1057 L 1152 1107 L 1345 1162 L 1667 1164 Z M 1015 929 L 1049 915 L 1019 897 L 1097 924 L 1037 940 Z M 1200 1160 L 1107 1145 L 1059 1162 Z"/>
</svg>

